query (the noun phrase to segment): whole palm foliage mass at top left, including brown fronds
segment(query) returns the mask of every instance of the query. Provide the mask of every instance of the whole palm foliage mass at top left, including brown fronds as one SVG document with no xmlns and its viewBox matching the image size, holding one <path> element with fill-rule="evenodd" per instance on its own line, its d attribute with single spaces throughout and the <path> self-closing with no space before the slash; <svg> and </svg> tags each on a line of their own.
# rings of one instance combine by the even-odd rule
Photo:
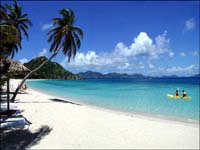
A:
<svg viewBox="0 0 200 150">
<path fill-rule="evenodd" d="M 22 32 L 28 38 L 27 30 L 32 25 L 28 14 L 22 13 L 22 7 L 14 1 L 14 5 L 0 6 L 1 57 L 14 57 L 21 49 Z"/>
</svg>

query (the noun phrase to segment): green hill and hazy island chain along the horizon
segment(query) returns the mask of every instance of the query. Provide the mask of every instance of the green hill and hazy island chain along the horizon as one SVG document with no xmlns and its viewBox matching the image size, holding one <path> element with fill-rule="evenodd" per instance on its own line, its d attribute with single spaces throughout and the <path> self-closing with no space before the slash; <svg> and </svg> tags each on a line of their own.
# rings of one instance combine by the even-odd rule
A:
<svg viewBox="0 0 200 150">
<path fill-rule="evenodd" d="M 47 60 L 45 56 L 36 57 L 31 61 L 24 63 L 29 70 L 33 70 L 38 67 L 42 62 Z M 190 77 L 200 77 L 200 74 L 195 74 Z M 21 76 L 16 76 L 16 78 L 21 78 Z M 134 73 L 107 73 L 103 74 L 95 71 L 86 71 L 74 74 L 66 69 L 64 69 L 57 62 L 48 62 L 40 70 L 37 71 L 34 75 L 31 76 L 32 79 L 63 79 L 63 80 L 80 80 L 80 79 L 142 79 L 142 78 L 180 78 L 177 75 L 170 76 L 145 76 L 143 74 Z"/>
</svg>

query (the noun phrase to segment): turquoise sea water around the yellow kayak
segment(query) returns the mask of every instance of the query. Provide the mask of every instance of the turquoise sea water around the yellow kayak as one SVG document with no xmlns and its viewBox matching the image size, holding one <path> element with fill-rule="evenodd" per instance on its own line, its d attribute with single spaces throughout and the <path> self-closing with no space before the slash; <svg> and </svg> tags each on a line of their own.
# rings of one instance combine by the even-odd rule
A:
<svg viewBox="0 0 200 150">
<path fill-rule="evenodd" d="M 126 112 L 199 120 L 199 78 L 38 80 L 28 85 L 80 103 Z M 168 99 L 184 89 L 192 100 Z"/>
</svg>

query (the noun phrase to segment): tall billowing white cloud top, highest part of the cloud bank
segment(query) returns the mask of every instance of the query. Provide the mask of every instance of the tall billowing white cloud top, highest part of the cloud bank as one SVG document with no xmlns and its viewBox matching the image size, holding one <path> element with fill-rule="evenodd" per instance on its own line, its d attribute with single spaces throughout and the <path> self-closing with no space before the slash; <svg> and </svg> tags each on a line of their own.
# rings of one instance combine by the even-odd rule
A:
<svg viewBox="0 0 200 150">
<path fill-rule="evenodd" d="M 162 35 L 158 35 L 155 38 L 155 42 L 148 36 L 146 32 L 140 32 L 139 35 L 134 38 L 133 43 L 130 46 L 125 45 L 123 42 L 119 42 L 115 47 L 115 53 L 125 57 L 134 56 L 150 56 L 151 58 L 158 58 L 160 54 L 169 51 L 169 38 L 166 38 L 167 31 Z"/>
</svg>

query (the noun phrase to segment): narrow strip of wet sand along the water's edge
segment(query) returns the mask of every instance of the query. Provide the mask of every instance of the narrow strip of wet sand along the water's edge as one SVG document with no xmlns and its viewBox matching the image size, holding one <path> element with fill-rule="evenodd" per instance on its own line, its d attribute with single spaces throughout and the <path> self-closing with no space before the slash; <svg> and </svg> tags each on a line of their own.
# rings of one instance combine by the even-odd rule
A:
<svg viewBox="0 0 200 150">
<path fill-rule="evenodd" d="M 35 79 L 30 79 L 28 81 L 34 81 Z M 40 79 L 36 79 L 37 81 Z M 36 81 L 35 80 L 35 81 Z M 48 80 L 48 79 L 41 79 L 41 80 Z M 72 99 L 72 98 L 67 98 L 67 97 L 62 97 L 62 96 L 57 96 L 54 95 L 52 93 L 49 93 L 47 91 L 40 91 L 37 88 L 32 88 L 29 87 L 31 90 L 37 91 L 39 93 L 43 93 L 46 94 L 48 96 L 52 96 L 52 97 L 57 97 L 59 99 L 68 101 L 68 102 L 72 102 L 72 103 L 76 103 L 85 107 L 89 107 L 89 108 L 94 108 L 94 109 L 99 109 L 99 110 L 103 110 L 103 111 L 107 111 L 107 112 L 112 112 L 112 113 L 116 113 L 119 115 L 125 115 L 125 116 L 130 116 L 130 117 L 137 117 L 137 118 L 144 118 L 144 119 L 148 119 L 148 120 L 154 120 L 154 121 L 164 121 L 166 123 L 180 123 L 180 124 L 184 124 L 184 125 L 190 125 L 190 126 L 194 126 L 194 127 L 199 127 L 199 120 L 193 120 L 193 119 L 187 119 L 187 118 L 178 118 L 178 117 L 172 117 L 172 116 L 164 116 L 164 115 L 159 115 L 159 114 L 149 114 L 149 113 L 144 113 L 144 112 L 131 112 L 131 111 L 123 111 L 123 110 L 119 110 L 119 109 L 114 109 L 114 108 L 106 108 L 106 107 L 101 107 L 101 106 L 97 106 L 95 104 L 90 104 L 90 103 L 84 103 L 84 102 L 80 102 L 79 100 L 76 99 Z"/>
</svg>

